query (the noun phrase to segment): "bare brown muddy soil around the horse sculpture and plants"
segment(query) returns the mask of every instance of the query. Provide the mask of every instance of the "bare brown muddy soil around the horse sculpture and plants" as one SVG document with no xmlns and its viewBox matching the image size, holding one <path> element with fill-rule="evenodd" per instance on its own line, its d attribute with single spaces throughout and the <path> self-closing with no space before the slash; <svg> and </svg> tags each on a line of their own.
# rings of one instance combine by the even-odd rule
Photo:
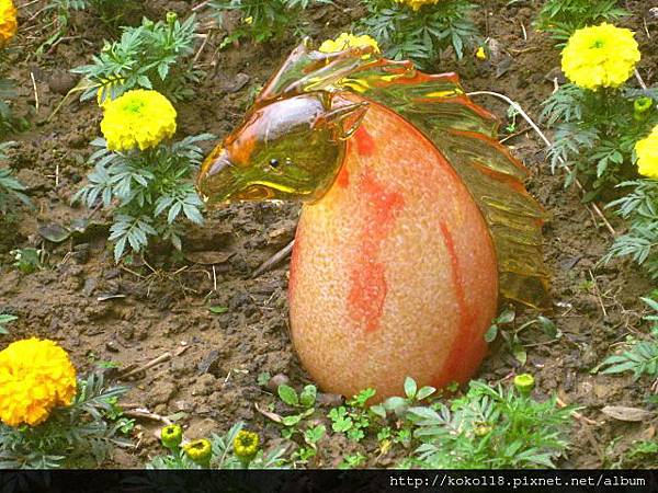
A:
<svg viewBox="0 0 658 493">
<path fill-rule="evenodd" d="M 27 7 L 21 8 L 21 3 Z M 144 14 L 151 19 L 162 19 L 167 10 L 188 15 L 196 4 L 144 3 L 148 4 Z M 468 91 L 499 91 L 537 116 L 540 103 L 554 89 L 554 78 L 559 80 L 558 51 L 546 35 L 531 26 L 537 2 L 476 3 L 480 5 L 475 11 L 477 24 L 485 36 L 497 42 L 499 56 L 485 62 L 469 56 L 462 64 L 446 56 L 434 71 L 457 70 Z M 647 84 L 655 84 L 658 21 L 649 18 L 648 9 L 656 4 L 625 3 L 634 15 L 621 24 L 636 31 L 644 55 L 639 71 Z M 125 399 L 127 404 L 163 416 L 184 412 L 181 423 L 189 437 L 224 432 L 236 420 L 243 420 L 273 444 L 280 437 L 279 428 L 254 409 L 254 403 L 274 401 L 257 382 L 259 374 L 285 374 L 296 387 L 309 378 L 287 333 L 287 262 L 257 278 L 252 273 L 292 240 L 299 207 L 247 204 L 214 211 L 203 228 L 188 229 L 183 257 L 157 248 L 147 259 L 148 265 L 115 265 L 102 226 L 60 244 L 43 242 L 39 226 L 67 225 L 90 215 L 71 206 L 70 198 L 88 172 L 89 142 L 100 133 L 100 111 L 72 98 L 52 115 L 77 82 L 67 70 L 88 62 L 103 38 L 114 35 L 92 14 L 78 12 L 67 37 L 37 57 L 35 48 L 52 33 L 50 18 L 42 11 L 45 2 L 18 4 L 21 31 L 8 76 L 20 85 L 14 112 L 25 116 L 31 127 L 10 136 L 18 142 L 10 164 L 29 186 L 36 208 L 21 210 L 0 223 L 0 310 L 19 317 L 2 345 L 27 335 L 49 337 L 71 352 L 80 370 L 93 369 L 99 362 L 115 362 L 118 369 L 107 371 L 114 379 L 126 368 L 169 354 L 169 359 L 129 381 L 134 390 Z M 311 9 L 305 28 L 321 41 L 345 31 L 361 13 L 356 1 L 338 0 L 333 7 Z M 239 122 L 253 92 L 295 45 L 293 37 L 284 36 L 264 45 L 245 42 L 219 50 L 224 32 L 215 30 L 208 35 L 198 56 L 206 77 L 195 88 L 192 101 L 178 104 L 180 136 L 226 135 Z M 477 102 L 506 119 L 506 107 L 499 102 L 483 96 Z M 615 422 L 600 410 L 611 404 L 646 408 L 651 382 L 590 370 L 610 354 L 611 346 L 646 329 L 640 323 L 644 306 L 638 297 L 653 286 L 629 262 L 599 265 L 611 244 L 611 233 L 591 208 L 581 204 L 577 191 L 563 188 L 564 176 L 551 173 L 541 141 L 525 129 L 525 124 L 519 123 L 519 135 L 507 144 L 531 170 L 529 188 L 552 215 L 545 227 L 545 255 L 553 274 L 554 311 L 547 316 L 564 337 L 544 344 L 546 337 L 538 330 L 524 332 L 522 339 L 529 344 L 524 368 L 519 368 L 506 345 L 497 344 L 479 378 L 498 382 L 527 370 L 537 378 L 537 395 L 557 391 L 563 401 L 583 406 L 582 415 L 591 421 L 575 420 L 574 444 L 559 467 L 611 467 L 632 440 L 651 437 L 658 422 Z M 606 215 L 616 230 L 623 230 L 612 214 Z M 94 218 L 102 221 L 102 211 Z M 47 267 L 24 275 L 11 266 L 9 251 L 29 245 L 47 250 Z M 198 262 L 208 255 L 213 265 Z M 214 314 L 211 306 L 228 310 Z M 520 322 L 537 316 L 524 309 L 518 313 Z M 118 450 L 107 466 L 139 467 L 149 455 L 159 452 L 152 432 L 160 425 L 138 420 L 134 431 L 137 447 Z M 337 466 L 343 455 L 359 450 L 368 457 L 370 467 L 393 463 L 395 457 L 375 459 L 375 445 L 325 438 L 315 466 Z"/>
</svg>

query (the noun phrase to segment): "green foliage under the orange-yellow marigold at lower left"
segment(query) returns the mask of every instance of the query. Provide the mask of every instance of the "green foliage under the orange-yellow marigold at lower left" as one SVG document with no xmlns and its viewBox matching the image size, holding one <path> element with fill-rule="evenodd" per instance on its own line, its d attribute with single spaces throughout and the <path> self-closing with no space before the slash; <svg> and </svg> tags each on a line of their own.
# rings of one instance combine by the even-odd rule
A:
<svg viewBox="0 0 658 493">
<path fill-rule="evenodd" d="M 0 424 L 0 468 L 56 469 L 100 466 L 115 446 L 128 446 L 120 436 L 124 421 L 113 421 L 116 398 L 127 387 L 106 388 L 102 375 L 78 381 L 71 405 L 57 408 L 37 426 Z M 92 460 L 93 459 L 93 460 Z"/>
</svg>

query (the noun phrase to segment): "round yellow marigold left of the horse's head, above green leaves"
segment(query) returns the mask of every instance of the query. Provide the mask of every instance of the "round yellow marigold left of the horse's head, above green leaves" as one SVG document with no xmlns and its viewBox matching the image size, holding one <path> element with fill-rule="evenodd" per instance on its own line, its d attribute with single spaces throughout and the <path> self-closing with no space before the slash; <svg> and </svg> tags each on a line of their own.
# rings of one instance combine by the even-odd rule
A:
<svg viewBox="0 0 658 493">
<path fill-rule="evenodd" d="M 155 147 L 175 133 L 175 110 L 157 91 L 135 89 L 107 102 L 101 131 L 107 149 L 125 151 Z"/>
</svg>

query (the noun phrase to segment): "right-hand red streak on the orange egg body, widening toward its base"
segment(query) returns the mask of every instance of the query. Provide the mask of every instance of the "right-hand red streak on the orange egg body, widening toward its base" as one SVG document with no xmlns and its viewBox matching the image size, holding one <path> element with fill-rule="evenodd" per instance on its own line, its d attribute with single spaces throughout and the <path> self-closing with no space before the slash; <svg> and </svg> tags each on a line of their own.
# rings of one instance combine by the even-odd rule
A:
<svg viewBox="0 0 658 493">
<path fill-rule="evenodd" d="M 474 370 L 474 368 L 472 368 L 474 362 L 479 364 L 487 348 L 484 336 L 474 334 L 476 320 L 466 302 L 464 278 L 462 277 L 460 257 L 457 256 L 453 237 L 445 222 L 441 221 L 439 228 L 441 229 L 443 240 L 445 241 L 445 249 L 450 255 L 454 293 L 460 309 L 457 335 L 455 336 L 441 374 L 434 381 L 434 385 L 438 388 L 441 388 L 453 381 L 461 383 L 467 380 Z"/>
</svg>

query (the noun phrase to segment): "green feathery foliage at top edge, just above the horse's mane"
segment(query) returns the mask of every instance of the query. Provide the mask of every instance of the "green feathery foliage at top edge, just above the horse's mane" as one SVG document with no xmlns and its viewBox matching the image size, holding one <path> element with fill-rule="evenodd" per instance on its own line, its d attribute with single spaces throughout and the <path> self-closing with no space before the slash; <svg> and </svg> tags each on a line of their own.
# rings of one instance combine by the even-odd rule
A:
<svg viewBox="0 0 658 493">
<path fill-rule="evenodd" d="M 373 36 L 384 55 L 395 60 L 411 60 L 423 68 L 440 59 L 452 47 L 457 59 L 480 43 L 469 18 L 475 8 L 465 0 L 441 0 L 412 10 L 395 0 L 363 0 L 367 14 L 359 31 Z"/>
</svg>

